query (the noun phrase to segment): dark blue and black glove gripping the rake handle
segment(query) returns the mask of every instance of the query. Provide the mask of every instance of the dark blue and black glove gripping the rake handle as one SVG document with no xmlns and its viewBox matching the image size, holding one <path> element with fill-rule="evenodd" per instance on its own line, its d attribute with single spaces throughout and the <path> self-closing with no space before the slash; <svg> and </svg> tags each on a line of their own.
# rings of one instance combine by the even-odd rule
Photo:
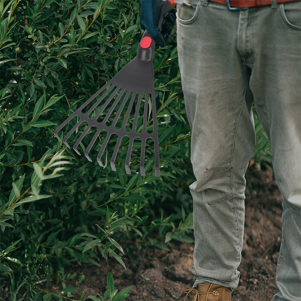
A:
<svg viewBox="0 0 301 301">
<path fill-rule="evenodd" d="M 143 30 L 147 29 L 155 42 L 163 47 L 172 27 L 175 25 L 176 9 L 172 8 L 163 15 L 162 30 L 159 30 L 159 19 L 164 1 L 162 0 L 139 0 L 140 25 Z"/>
</svg>

